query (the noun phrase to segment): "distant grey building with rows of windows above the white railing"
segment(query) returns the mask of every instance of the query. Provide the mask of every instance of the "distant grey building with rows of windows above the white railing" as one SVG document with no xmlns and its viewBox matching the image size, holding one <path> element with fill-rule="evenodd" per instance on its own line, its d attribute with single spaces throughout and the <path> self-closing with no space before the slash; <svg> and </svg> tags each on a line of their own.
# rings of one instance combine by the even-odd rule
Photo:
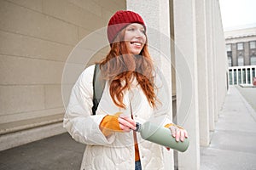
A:
<svg viewBox="0 0 256 170">
<path fill-rule="evenodd" d="M 224 32 L 229 66 L 256 65 L 256 27 Z"/>
</svg>

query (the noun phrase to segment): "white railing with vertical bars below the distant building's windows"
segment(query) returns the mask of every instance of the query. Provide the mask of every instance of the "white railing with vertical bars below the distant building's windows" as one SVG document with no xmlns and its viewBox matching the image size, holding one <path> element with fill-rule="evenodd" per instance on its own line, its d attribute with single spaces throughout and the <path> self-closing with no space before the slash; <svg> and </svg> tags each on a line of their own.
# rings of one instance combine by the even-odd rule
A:
<svg viewBox="0 0 256 170">
<path fill-rule="evenodd" d="M 256 77 L 256 65 L 229 67 L 230 85 L 245 84 L 253 85 L 253 77 Z"/>
</svg>

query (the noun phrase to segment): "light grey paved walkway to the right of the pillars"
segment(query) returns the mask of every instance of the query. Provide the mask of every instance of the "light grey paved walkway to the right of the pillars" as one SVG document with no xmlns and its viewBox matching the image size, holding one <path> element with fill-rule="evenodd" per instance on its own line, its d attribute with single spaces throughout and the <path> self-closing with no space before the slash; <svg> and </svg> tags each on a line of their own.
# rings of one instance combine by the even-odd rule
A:
<svg viewBox="0 0 256 170">
<path fill-rule="evenodd" d="M 239 92 L 237 90 L 239 89 Z M 256 88 L 231 86 L 209 147 L 201 147 L 201 170 L 256 169 Z M 242 96 L 250 99 L 251 105 Z M 254 105 L 253 105 L 254 106 Z"/>
</svg>

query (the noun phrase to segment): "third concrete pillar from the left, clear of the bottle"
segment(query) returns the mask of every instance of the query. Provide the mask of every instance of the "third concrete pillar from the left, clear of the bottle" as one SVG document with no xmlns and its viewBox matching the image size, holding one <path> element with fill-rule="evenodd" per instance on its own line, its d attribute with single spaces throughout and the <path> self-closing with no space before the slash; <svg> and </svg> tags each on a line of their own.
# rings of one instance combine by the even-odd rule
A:
<svg viewBox="0 0 256 170">
<path fill-rule="evenodd" d="M 198 72 L 198 102 L 200 144 L 207 146 L 210 142 L 209 108 L 208 108 L 208 77 L 207 77 L 207 35 L 205 0 L 195 2 L 196 11 L 196 42 Z"/>
</svg>

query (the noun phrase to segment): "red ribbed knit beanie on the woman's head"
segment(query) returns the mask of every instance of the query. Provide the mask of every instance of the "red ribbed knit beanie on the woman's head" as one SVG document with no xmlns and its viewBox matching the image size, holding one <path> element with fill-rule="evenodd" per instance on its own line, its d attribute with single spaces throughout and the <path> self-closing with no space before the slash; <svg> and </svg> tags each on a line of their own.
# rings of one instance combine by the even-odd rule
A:
<svg viewBox="0 0 256 170">
<path fill-rule="evenodd" d="M 146 28 L 143 18 L 135 12 L 119 10 L 113 14 L 108 22 L 108 42 L 112 43 L 119 31 L 131 23 L 139 23 Z"/>
</svg>

